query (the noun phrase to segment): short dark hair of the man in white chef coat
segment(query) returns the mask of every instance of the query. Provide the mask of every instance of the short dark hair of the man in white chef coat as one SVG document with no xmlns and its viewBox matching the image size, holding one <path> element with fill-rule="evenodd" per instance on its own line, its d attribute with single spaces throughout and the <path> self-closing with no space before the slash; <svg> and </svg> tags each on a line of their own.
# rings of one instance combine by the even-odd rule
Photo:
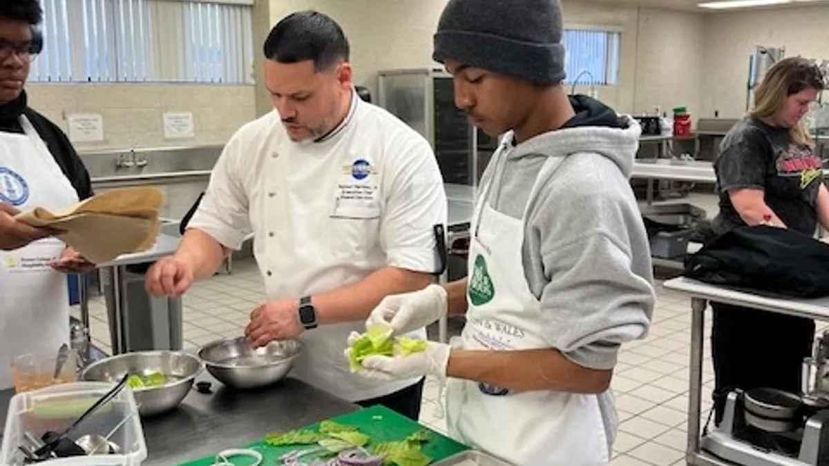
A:
<svg viewBox="0 0 829 466">
<path fill-rule="evenodd" d="M 280 63 L 310 60 L 316 70 L 327 70 L 339 61 L 348 61 L 348 39 L 342 27 L 326 14 L 294 12 L 270 30 L 264 41 L 264 56 Z"/>
</svg>

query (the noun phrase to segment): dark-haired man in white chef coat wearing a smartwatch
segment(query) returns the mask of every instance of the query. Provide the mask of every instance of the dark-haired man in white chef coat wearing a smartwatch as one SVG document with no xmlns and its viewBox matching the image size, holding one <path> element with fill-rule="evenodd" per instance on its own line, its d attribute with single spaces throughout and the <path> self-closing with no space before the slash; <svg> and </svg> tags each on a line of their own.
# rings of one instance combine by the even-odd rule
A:
<svg viewBox="0 0 829 466">
<path fill-rule="evenodd" d="M 368 381 L 342 352 L 385 295 L 422 289 L 439 269 L 435 226 L 446 223 L 447 201 L 434 153 L 356 95 L 348 41 L 331 17 L 285 17 L 264 55 L 274 111 L 230 138 L 177 253 L 149 270 L 148 290 L 184 293 L 253 231 L 267 301 L 250 313 L 251 344 L 300 337 L 293 375 L 416 420 L 423 376 Z"/>
</svg>

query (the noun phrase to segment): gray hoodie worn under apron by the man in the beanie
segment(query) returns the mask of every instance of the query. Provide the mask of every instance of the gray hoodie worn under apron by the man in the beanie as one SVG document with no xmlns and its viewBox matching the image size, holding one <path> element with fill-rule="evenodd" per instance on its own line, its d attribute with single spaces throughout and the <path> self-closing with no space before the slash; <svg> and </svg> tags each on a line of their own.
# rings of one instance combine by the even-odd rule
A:
<svg viewBox="0 0 829 466">
<path fill-rule="evenodd" d="M 623 342 L 647 336 L 655 294 L 647 233 L 630 186 L 641 129 L 636 120 L 584 96 L 565 127 L 514 145 L 503 138 L 489 204 L 521 218 L 527 284 L 543 310 L 540 332 L 581 366 L 612 369 Z M 565 157 L 529 199 L 541 165 Z M 599 396 L 608 439 L 616 413 Z"/>
</svg>

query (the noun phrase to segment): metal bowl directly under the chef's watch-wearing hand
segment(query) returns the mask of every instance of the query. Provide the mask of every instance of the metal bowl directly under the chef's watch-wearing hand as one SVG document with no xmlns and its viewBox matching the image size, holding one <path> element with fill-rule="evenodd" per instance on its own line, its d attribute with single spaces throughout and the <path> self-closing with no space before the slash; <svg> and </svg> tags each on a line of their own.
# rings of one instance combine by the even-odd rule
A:
<svg viewBox="0 0 829 466">
<path fill-rule="evenodd" d="M 245 337 L 236 337 L 207 343 L 199 349 L 199 357 L 216 380 L 233 388 L 251 389 L 282 380 L 302 351 L 303 343 L 298 340 L 275 341 L 253 349 Z"/>
</svg>

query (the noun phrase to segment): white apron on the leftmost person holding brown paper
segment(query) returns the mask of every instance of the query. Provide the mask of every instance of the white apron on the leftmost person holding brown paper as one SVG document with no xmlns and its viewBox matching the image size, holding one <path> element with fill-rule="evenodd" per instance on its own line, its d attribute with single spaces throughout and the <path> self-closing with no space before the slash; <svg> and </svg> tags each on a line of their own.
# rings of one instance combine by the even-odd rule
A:
<svg viewBox="0 0 829 466">
<path fill-rule="evenodd" d="M 23 134 L 0 133 L 0 202 L 21 211 L 36 206 L 56 211 L 78 201 L 29 120 Z M 0 390 L 12 387 L 10 364 L 28 352 L 57 352 L 69 343 L 66 275 L 49 267 L 66 245 L 56 238 L 2 251 L 0 263 Z"/>
</svg>

